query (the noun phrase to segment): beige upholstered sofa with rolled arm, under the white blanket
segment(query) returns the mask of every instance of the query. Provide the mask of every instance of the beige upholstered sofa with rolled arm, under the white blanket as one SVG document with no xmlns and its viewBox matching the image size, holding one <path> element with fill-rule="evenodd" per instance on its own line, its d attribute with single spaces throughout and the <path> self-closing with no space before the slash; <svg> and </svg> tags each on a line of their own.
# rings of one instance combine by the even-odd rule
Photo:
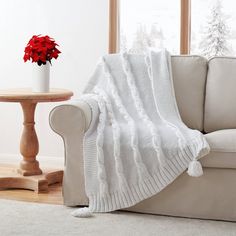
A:
<svg viewBox="0 0 236 236">
<path fill-rule="evenodd" d="M 129 211 L 236 221 L 236 58 L 172 56 L 176 98 L 186 125 L 203 132 L 211 152 L 201 159 L 204 175 L 183 173 Z M 54 108 L 50 125 L 64 140 L 64 203 L 87 205 L 83 135 L 91 118 L 83 102 Z"/>
</svg>

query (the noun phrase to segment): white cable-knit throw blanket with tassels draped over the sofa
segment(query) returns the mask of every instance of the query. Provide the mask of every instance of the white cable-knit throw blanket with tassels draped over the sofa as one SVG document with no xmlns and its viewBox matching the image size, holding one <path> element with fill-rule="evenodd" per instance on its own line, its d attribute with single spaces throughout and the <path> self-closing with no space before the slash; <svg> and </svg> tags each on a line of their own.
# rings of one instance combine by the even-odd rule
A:
<svg viewBox="0 0 236 236">
<path fill-rule="evenodd" d="M 181 120 L 166 50 L 104 56 L 85 93 L 93 111 L 84 137 L 90 211 L 130 207 L 164 189 L 191 161 L 201 168 L 196 160 L 209 146 Z"/>
</svg>

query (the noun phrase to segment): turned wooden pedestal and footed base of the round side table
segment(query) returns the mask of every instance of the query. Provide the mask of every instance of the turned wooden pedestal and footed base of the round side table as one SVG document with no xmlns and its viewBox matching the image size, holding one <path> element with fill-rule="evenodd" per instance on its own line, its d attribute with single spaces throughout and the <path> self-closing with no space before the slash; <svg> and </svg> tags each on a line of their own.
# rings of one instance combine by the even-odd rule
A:
<svg viewBox="0 0 236 236">
<path fill-rule="evenodd" d="M 24 114 L 24 129 L 21 136 L 20 152 L 23 160 L 17 172 L 14 167 L 0 168 L 0 190 L 9 188 L 23 188 L 34 190 L 38 193 L 47 192 L 49 185 L 61 183 L 62 170 L 42 170 L 36 156 L 39 151 L 39 143 L 34 128 L 34 113 L 37 103 L 30 101 L 21 102 Z"/>
</svg>

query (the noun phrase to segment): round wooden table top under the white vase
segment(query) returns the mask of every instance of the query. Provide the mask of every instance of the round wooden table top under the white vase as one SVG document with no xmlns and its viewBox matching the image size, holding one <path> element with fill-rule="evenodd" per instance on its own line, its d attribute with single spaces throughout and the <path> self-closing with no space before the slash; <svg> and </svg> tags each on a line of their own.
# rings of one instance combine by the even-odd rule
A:
<svg viewBox="0 0 236 236">
<path fill-rule="evenodd" d="M 52 88 L 48 93 L 32 92 L 30 88 L 0 90 L 0 102 L 60 102 L 69 100 L 73 92 Z"/>
</svg>

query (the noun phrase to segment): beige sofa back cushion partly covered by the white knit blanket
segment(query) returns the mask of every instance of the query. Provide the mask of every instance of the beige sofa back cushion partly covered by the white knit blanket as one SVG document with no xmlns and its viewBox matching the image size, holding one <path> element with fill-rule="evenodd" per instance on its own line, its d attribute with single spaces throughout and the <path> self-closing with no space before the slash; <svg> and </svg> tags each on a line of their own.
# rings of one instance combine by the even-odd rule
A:
<svg viewBox="0 0 236 236">
<path fill-rule="evenodd" d="M 183 122 L 203 131 L 207 60 L 200 56 L 172 56 L 176 100 Z"/>
</svg>

